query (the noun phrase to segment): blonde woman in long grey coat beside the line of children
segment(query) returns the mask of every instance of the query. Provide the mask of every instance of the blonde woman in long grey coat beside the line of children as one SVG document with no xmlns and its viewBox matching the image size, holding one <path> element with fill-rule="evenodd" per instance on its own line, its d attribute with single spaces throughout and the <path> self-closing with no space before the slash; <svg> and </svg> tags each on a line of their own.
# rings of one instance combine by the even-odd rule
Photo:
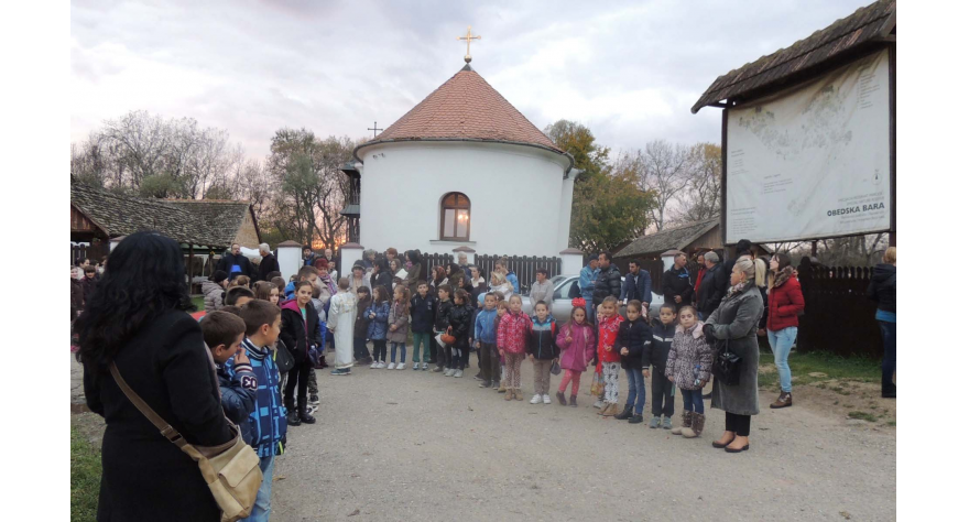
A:
<svg viewBox="0 0 969 522">
<path fill-rule="evenodd" d="M 750 448 L 750 416 L 758 407 L 758 349 L 756 330 L 764 302 L 754 284 L 756 268 L 750 258 L 740 258 L 730 273 L 730 290 L 720 306 L 707 318 L 704 334 L 711 344 L 727 339 L 730 351 L 740 356 L 740 382 L 727 385 L 714 379 L 712 407 L 727 412 L 727 429 L 715 448 L 739 453 Z M 715 356 L 716 358 L 716 356 Z"/>
</svg>

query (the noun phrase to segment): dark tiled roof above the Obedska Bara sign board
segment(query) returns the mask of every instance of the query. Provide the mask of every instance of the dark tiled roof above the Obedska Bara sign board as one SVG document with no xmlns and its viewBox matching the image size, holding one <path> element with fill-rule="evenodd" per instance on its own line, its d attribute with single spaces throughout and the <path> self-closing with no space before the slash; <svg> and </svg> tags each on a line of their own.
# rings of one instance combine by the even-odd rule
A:
<svg viewBox="0 0 969 522">
<path fill-rule="evenodd" d="M 720 76 L 690 110 L 695 113 L 720 100 L 737 99 L 754 90 L 780 88 L 792 79 L 792 75 L 840 57 L 848 51 L 859 51 L 886 36 L 894 28 L 895 0 L 879 0 L 790 47 Z"/>
</svg>

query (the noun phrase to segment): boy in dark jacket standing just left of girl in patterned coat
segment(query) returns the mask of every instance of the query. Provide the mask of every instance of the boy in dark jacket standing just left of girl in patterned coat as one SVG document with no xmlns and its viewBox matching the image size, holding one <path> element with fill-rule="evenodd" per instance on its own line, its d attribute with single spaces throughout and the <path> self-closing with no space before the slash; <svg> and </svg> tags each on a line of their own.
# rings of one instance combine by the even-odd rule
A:
<svg viewBox="0 0 969 522">
<path fill-rule="evenodd" d="M 660 427 L 660 415 L 663 415 L 663 429 L 673 429 L 673 383 L 666 379 L 666 359 L 673 336 L 676 335 L 676 305 L 664 303 L 660 307 L 660 317 L 653 319 L 653 342 L 643 348 L 643 377 L 650 377 L 653 367 L 653 418 L 650 427 Z"/>
</svg>

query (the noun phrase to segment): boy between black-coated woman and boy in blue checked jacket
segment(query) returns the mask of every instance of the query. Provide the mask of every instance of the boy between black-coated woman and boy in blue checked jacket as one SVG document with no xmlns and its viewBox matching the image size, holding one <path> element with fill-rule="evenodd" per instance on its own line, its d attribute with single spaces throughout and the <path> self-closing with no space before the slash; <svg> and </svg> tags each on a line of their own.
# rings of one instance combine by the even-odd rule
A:
<svg viewBox="0 0 969 522">
<path fill-rule="evenodd" d="M 222 395 L 226 417 L 239 426 L 246 444 L 252 444 L 249 415 L 255 410 L 255 373 L 246 350 L 240 350 L 246 336 L 246 322 L 228 312 L 213 312 L 199 323 L 205 344 L 211 350 Z M 226 370 L 226 361 L 232 359 L 232 374 Z"/>
</svg>

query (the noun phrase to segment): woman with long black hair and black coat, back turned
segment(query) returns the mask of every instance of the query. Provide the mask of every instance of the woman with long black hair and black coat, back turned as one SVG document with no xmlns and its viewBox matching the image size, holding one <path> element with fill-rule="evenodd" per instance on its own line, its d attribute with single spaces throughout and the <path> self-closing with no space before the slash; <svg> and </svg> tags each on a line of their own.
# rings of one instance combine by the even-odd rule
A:
<svg viewBox="0 0 969 522">
<path fill-rule="evenodd" d="M 105 417 L 99 521 L 211 521 L 220 513 L 198 465 L 128 400 L 121 377 L 193 445 L 233 433 L 211 356 L 190 307 L 182 249 L 153 232 L 128 236 L 75 323 L 88 407 Z"/>
</svg>

